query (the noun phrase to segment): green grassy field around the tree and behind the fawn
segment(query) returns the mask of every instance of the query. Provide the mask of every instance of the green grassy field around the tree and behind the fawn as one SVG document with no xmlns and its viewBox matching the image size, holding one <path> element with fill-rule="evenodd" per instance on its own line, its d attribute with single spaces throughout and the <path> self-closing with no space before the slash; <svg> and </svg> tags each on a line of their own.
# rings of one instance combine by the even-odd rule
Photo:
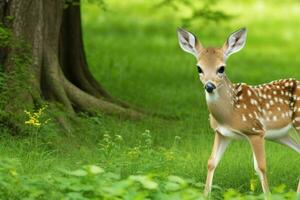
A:
<svg viewBox="0 0 300 200">
<path fill-rule="evenodd" d="M 82 114 L 71 133 L 62 133 L 49 123 L 29 137 L 1 134 L 1 155 L 20 160 L 23 174 L 99 164 L 122 177 L 174 174 L 204 182 L 213 131 L 195 60 L 177 43 L 176 28 L 182 26 L 182 13 L 169 7 L 158 10 L 154 3 L 145 2 L 110 0 L 107 11 L 93 4 L 83 6 L 89 65 L 113 96 L 179 119 L 130 121 Z M 222 45 L 230 32 L 248 28 L 246 47 L 228 60 L 227 74 L 233 82 L 260 84 L 285 77 L 300 80 L 299 3 L 221 1 L 217 6 L 233 19 L 223 23 L 195 21 L 188 29 L 204 45 L 216 46 Z M 299 155 L 270 142 L 266 151 L 271 187 L 285 184 L 295 189 Z M 214 184 L 246 192 L 250 180 L 258 182 L 250 146 L 235 141 L 216 170 Z M 259 183 L 255 192 L 261 192 Z"/>
</svg>

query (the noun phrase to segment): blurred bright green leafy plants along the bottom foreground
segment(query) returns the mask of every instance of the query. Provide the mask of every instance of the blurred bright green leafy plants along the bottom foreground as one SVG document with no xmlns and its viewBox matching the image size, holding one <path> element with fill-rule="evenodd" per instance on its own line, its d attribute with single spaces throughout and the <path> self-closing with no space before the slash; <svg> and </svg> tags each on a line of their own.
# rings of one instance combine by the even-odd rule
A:
<svg viewBox="0 0 300 200">
<path fill-rule="evenodd" d="M 16 165 L 15 160 L 2 158 L 0 161 L 1 199 L 204 199 L 197 183 L 178 176 L 164 178 L 148 174 L 121 178 L 97 165 L 87 165 L 76 170 L 60 170 L 56 175 L 30 177 L 19 174 Z M 286 193 L 281 187 L 272 198 L 296 199 L 296 193 Z M 224 199 L 253 200 L 263 196 L 242 195 L 229 189 Z"/>
</svg>

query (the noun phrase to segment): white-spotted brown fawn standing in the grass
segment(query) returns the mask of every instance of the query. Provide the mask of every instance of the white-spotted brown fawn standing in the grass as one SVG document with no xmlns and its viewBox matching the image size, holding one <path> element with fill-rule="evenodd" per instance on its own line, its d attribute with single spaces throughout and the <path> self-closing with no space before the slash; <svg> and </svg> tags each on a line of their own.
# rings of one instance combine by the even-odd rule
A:
<svg viewBox="0 0 300 200">
<path fill-rule="evenodd" d="M 300 144 L 289 132 L 294 128 L 300 134 L 300 83 L 289 78 L 251 86 L 229 80 L 225 73 L 226 61 L 245 46 L 246 28 L 231 33 L 221 47 L 204 47 L 193 33 L 182 28 L 178 28 L 177 34 L 180 47 L 196 57 L 210 126 L 214 130 L 204 195 L 211 193 L 214 171 L 230 142 L 236 139 L 249 141 L 263 193 L 269 194 L 265 140 L 300 153 Z M 297 193 L 300 193 L 300 180 Z"/>
</svg>

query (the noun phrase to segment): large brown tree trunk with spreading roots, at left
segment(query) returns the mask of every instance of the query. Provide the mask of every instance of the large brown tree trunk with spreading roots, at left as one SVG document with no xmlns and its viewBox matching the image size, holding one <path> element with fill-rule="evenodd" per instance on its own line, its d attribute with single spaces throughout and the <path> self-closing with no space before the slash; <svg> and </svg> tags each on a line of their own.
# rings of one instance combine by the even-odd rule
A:
<svg viewBox="0 0 300 200">
<path fill-rule="evenodd" d="M 9 101 L 5 109 L 20 113 L 44 98 L 59 102 L 69 113 L 87 111 L 142 117 L 141 112 L 112 98 L 90 73 L 79 3 L 76 0 L 64 8 L 63 0 L 0 0 L 1 26 L 11 30 L 14 43 L 30 45 L 29 50 L 19 46 L 0 50 L 4 72 L 20 73 L 15 55 L 24 53 L 24 57 L 31 58 L 24 73 L 27 77 L 23 80 L 28 87 L 15 91 L 18 98 Z M 20 105 L 20 102 L 26 104 Z"/>
</svg>

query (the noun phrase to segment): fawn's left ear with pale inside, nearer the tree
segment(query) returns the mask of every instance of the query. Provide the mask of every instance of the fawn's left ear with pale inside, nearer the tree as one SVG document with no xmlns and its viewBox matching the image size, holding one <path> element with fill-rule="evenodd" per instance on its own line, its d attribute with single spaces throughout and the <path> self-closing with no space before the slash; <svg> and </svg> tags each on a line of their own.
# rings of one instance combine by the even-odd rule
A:
<svg viewBox="0 0 300 200">
<path fill-rule="evenodd" d="M 197 41 L 195 35 L 181 28 L 178 28 L 177 34 L 180 47 L 198 58 L 201 44 Z"/>
</svg>

